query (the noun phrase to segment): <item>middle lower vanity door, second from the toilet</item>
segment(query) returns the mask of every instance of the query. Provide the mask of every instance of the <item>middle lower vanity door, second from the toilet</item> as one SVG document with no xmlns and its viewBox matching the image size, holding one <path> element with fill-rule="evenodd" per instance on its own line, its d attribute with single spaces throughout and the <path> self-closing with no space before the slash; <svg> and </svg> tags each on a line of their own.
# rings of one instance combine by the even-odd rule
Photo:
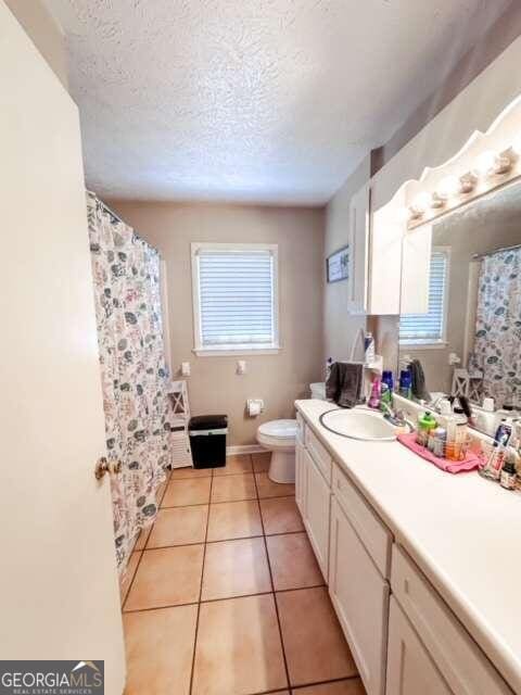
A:
<svg viewBox="0 0 521 695">
<path fill-rule="evenodd" d="M 382 695 L 389 584 L 334 495 L 331 503 L 329 593 L 368 695 Z"/>
</svg>

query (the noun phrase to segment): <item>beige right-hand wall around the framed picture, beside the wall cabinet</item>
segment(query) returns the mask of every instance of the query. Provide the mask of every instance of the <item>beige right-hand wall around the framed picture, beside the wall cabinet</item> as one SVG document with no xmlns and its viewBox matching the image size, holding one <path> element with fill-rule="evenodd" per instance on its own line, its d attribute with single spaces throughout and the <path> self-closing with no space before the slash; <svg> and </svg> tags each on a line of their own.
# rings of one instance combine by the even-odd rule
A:
<svg viewBox="0 0 521 695">
<path fill-rule="evenodd" d="M 327 205 L 325 258 L 347 243 L 351 199 L 369 180 L 370 166 L 370 157 L 368 156 Z M 347 280 L 328 283 L 326 263 L 323 268 L 323 357 L 325 361 L 332 357 L 333 362 L 347 359 L 353 340 L 360 326 L 366 326 L 366 318 L 365 316 L 350 316 L 347 313 Z"/>
</svg>

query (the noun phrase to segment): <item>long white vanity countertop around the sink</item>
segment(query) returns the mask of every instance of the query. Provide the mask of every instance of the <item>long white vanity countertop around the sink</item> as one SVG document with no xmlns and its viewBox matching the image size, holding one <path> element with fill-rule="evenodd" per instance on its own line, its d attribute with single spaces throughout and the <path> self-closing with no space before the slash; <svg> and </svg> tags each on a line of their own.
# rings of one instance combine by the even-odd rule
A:
<svg viewBox="0 0 521 695">
<path fill-rule="evenodd" d="M 444 472 L 398 442 L 333 434 L 319 424 L 331 405 L 295 402 L 396 541 L 521 694 L 521 494 L 478 472 Z"/>
</svg>

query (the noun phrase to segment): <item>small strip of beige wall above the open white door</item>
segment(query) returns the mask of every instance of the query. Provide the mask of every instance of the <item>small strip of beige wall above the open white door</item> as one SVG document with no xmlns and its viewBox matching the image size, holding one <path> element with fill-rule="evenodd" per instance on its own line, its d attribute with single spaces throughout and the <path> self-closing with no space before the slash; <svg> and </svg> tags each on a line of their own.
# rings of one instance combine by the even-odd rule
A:
<svg viewBox="0 0 521 695">
<path fill-rule="evenodd" d="M 40 0 L 5 0 L 33 43 L 68 90 L 65 39 Z"/>
</svg>

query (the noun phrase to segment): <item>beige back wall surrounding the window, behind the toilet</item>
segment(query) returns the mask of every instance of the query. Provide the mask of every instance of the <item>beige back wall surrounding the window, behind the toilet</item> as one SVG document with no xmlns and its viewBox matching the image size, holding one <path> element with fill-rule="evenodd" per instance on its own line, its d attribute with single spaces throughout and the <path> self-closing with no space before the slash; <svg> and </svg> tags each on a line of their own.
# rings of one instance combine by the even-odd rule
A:
<svg viewBox="0 0 521 695">
<path fill-rule="evenodd" d="M 294 417 L 293 401 L 321 377 L 323 211 L 313 208 L 167 204 L 109 201 L 125 222 L 156 247 L 167 266 L 174 372 L 190 362 L 194 415 L 227 413 L 228 443 L 253 444 L 258 425 Z M 190 243 L 192 241 L 279 245 L 280 339 L 278 355 L 196 357 L 193 349 Z M 237 359 L 247 374 L 236 375 Z M 249 397 L 264 399 L 255 419 Z"/>
</svg>

